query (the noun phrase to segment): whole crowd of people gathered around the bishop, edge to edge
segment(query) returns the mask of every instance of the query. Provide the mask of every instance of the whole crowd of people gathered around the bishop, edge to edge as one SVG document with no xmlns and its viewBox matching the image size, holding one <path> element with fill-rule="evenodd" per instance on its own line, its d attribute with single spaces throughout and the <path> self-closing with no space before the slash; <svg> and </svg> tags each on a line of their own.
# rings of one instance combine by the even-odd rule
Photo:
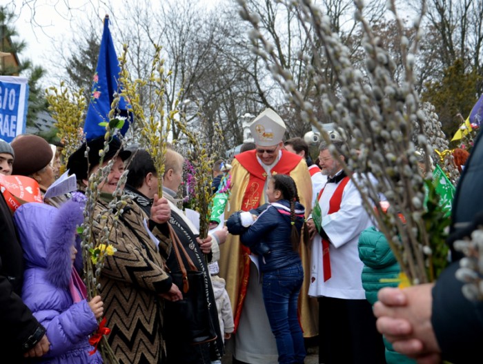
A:
<svg viewBox="0 0 483 364">
<path fill-rule="evenodd" d="M 105 150 L 101 136 L 66 161 L 75 191 L 12 204 L 2 185 L 0 347 L 12 362 L 102 363 L 92 340 L 99 327 L 108 327 L 119 363 L 220 364 L 230 345 L 234 364 L 301 364 L 309 339 L 325 364 L 469 363 L 479 356 L 483 302 L 462 294 L 455 278 L 461 256 L 453 251 L 435 283 L 404 290 L 380 284 L 400 267 L 342 168 L 344 140 L 331 143 L 337 158 L 320 143 L 314 163 L 304 139 L 285 139 L 274 110 L 261 112 L 250 131 L 253 143 L 233 160 L 213 161 L 213 194 L 228 202 L 206 237 L 179 203 L 185 157 L 172 145 L 162 175 L 144 148 L 114 137 Z M 450 244 L 483 221 L 475 203 L 480 139 L 471 154 L 457 153 L 462 176 Z M 0 140 L 0 174 L 32 179 L 41 196 L 59 176 L 58 157 L 40 136 Z M 77 229 L 89 188 L 99 192 L 91 213 L 103 216 L 89 227 L 92 236 L 113 247 L 95 296 L 86 290 Z M 193 314 L 188 278 L 175 279 L 186 270 L 200 279 L 192 292 L 197 310 L 206 310 L 193 326 L 184 321 Z"/>
</svg>

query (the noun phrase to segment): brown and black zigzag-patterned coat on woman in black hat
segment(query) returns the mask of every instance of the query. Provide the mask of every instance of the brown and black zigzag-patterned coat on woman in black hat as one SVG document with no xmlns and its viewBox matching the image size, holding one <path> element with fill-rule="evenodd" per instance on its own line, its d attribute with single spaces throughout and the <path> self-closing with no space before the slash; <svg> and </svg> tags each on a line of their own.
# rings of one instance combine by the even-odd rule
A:
<svg viewBox="0 0 483 364">
<path fill-rule="evenodd" d="M 94 216 L 107 210 L 106 199 L 112 199 L 110 195 L 102 197 Z M 119 363 L 160 363 L 164 342 L 159 294 L 168 292 L 172 279 L 144 228 L 148 216 L 131 199 L 126 201 L 119 223 L 109 236 L 117 251 L 107 257 L 99 279 L 107 327 L 111 329 L 108 342 Z M 112 214 L 108 214 L 107 227 L 112 228 L 113 223 Z M 102 228 L 92 227 L 98 239 Z"/>
</svg>

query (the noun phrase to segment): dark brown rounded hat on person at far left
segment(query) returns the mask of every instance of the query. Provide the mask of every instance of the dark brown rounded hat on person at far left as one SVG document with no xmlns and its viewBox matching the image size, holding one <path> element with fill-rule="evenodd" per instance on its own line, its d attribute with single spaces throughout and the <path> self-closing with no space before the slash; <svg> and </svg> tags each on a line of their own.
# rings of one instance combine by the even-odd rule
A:
<svg viewBox="0 0 483 364">
<path fill-rule="evenodd" d="M 11 143 L 15 152 L 12 174 L 30 176 L 52 161 L 52 149 L 46 139 L 37 135 L 22 135 Z"/>
</svg>

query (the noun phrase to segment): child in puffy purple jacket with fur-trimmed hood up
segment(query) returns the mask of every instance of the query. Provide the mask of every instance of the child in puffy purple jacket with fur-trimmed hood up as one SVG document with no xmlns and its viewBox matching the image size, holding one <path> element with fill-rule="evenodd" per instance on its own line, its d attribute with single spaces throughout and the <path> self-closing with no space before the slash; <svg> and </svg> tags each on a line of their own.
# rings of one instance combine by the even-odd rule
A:
<svg viewBox="0 0 483 364">
<path fill-rule="evenodd" d="M 97 330 L 103 303 L 100 296 L 86 300 L 86 286 L 73 269 L 82 210 L 83 201 L 73 198 L 59 209 L 26 203 L 14 213 L 26 261 L 22 299 L 50 341 L 48 353 L 35 363 L 102 363 L 99 352 L 89 354 L 89 335 Z"/>
</svg>

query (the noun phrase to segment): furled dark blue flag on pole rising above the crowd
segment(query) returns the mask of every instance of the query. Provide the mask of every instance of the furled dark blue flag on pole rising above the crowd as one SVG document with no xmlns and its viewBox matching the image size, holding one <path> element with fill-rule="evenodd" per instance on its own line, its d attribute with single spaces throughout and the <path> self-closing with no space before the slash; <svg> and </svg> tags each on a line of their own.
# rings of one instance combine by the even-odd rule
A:
<svg viewBox="0 0 483 364">
<path fill-rule="evenodd" d="M 110 121 L 108 120 L 110 105 L 114 100 L 115 92 L 120 92 L 119 72 L 121 72 L 121 68 L 119 67 L 116 50 L 110 35 L 109 16 L 106 15 L 101 48 L 99 49 L 99 59 L 97 59 L 97 68 L 92 80 L 90 103 L 83 129 L 88 141 L 106 133 L 105 126 L 99 124 Z M 117 109 L 115 117 L 128 118 L 121 128 L 121 134 L 124 135 L 132 122 L 132 113 L 128 112 L 129 105 L 124 98 L 120 99 Z"/>
</svg>

